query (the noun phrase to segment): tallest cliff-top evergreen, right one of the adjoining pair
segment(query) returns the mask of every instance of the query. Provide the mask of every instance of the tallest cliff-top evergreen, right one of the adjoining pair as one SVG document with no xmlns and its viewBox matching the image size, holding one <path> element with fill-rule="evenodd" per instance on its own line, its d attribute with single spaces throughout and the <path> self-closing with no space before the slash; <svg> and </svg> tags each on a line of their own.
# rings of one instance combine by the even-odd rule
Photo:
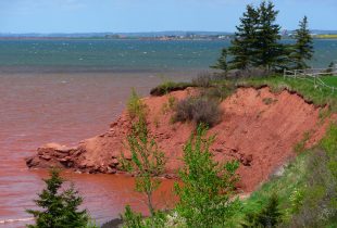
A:
<svg viewBox="0 0 337 228">
<path fill-rule="evenodd" d="M 260 4 L 257 40 L 253 42 L 253 65 L 267 71 L 283 67 L 286 60 L 284 46 L 279 43 L 280 26 L 275 23 L 278 11 L 275 11 L 274 7 L 272 2 L 265 1 Z"/>
</svg>

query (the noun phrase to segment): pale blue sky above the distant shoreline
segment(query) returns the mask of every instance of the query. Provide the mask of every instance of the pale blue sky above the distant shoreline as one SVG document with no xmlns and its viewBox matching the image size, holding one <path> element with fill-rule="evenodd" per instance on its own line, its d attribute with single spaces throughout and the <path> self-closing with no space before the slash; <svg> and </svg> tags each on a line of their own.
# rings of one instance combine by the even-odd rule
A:
<svg viewBox="0 0 337 228">
<path fill-rule="evenodd" d="M 337 30 L 337 0 L 273 0 L 277 23 Z M 260 0 L 0 0 L 0 33 L 234 31 Z"/>
</svg>

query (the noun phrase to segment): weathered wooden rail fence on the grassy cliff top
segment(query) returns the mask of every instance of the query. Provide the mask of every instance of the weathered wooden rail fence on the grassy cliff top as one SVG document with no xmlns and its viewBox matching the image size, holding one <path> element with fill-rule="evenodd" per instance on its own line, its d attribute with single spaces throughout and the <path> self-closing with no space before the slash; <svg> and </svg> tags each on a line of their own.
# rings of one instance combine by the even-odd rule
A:
<svg viewBox="0 0 337 228">
<path fill-rule="evenodd" d="M 324 87 L 330 89 L 333 92 L 336 92 L 337 87 L 329 86 L 322 80 L 322 76 L 326 75 L 334 76 L 337 78 L 337 67 L 284 71 L 284 78 L 290 77 L 295 79 L 309 80 L 314 84 L 315 88 Z"/>
</svg>

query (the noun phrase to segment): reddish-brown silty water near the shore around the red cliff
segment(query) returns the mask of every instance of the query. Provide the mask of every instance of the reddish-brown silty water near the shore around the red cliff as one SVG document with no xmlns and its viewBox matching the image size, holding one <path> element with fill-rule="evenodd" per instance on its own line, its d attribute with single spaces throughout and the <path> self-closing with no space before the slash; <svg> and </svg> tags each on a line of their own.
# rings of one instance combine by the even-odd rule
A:
<svg viewBox="0 0 337 228">
<path fill-rule="evenodd" d="M 174 76 L 176 78 L 177 76 Z M 186 76 L 187 79 L 190 76 Z M 0 75 L 0 227 L 23 227 L 43 188 L 46 170 L 29 170 L 24 159 L 48 142 L 74 145 L 104 132 L 125 106 L 130 88 L 148 94 L 162 81 L 151 74 L 11 74 Z M 86 207 L 99 223 L 118 217 L 126 204 L 146 211 L 143 198 L 126 176 L 65 172 L 84 195 Z M 173 181 L 155 194 L 170 206 Z M 24 221 L 5 223 L 8 219 Z"/>
</svg>

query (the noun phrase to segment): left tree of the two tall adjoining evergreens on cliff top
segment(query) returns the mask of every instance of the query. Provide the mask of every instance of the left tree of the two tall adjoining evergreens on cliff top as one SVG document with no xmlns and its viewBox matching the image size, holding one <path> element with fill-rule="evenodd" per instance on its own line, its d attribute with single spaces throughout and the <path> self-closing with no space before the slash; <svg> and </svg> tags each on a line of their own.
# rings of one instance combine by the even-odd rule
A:
<svg viewBox="0 0 337 228">
<path fill-rule="evenodd" d="M 247 69 L 251 66 L 254 55 L 254 43 L 257 41 L 257 25 L 259 14 L 251 5 L 247 5 L 240 25 L 236 26 L 237 31 L 232 40 L 228 51 L 233 59 L 229 61 L 229 68 Z"/>
</svg>

